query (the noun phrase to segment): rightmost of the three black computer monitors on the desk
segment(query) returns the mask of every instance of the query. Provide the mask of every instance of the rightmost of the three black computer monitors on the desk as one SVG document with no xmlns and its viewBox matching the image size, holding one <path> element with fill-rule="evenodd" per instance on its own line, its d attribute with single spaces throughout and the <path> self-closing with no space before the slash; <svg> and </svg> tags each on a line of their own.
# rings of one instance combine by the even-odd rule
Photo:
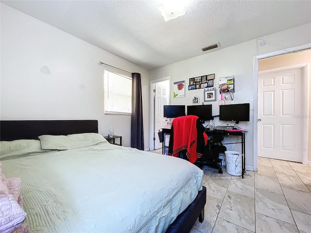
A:
<svg viewBox="0 0 311 233">
<path fill-rule="evenodd" d="M 219 106 L 219 120 L 249 121 L 249 103 L 227 104 Z"/>
</svg>

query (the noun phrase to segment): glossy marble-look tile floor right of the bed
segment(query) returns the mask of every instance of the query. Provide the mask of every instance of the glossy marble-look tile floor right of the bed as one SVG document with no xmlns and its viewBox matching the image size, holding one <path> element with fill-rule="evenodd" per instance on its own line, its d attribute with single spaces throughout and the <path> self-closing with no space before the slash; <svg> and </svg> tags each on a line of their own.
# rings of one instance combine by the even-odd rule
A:
<svg viewBox="0 0 311 233">
<path fill-rule="evenodd" d="M 205 220 L 190 233 L 311 233 L 311 166 L 259 157 L 245 179 L 203 170 Z"/>
</svg>

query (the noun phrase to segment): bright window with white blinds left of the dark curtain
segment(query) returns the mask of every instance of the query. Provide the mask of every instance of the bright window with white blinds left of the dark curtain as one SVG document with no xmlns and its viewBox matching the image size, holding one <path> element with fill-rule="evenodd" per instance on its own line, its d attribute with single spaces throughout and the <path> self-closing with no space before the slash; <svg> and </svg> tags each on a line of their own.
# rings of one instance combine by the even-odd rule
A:
<svg viewBox="0 0 311 233">
<path fill-rule="evenodd" d="M 132 77 L 130 77 L 130 74 L 127 74 L 125 72 L 119 72 L 119 71 L 112 71 L 111 69 L 105 69 L 104 70 L 104 114 L 105 115 L 128 115 L 131 116 L 132 115 L 132 85 L 130 90 L 127 90 L 127 94 L 125 95 L 120 95 L 120 93 L 116 92 L 117 89 L 113 89 L 114 92 L 109 92 L 109 86 L 108 86 L 108 82 L 109 82 L 109 73 L 113 74 L 113 75 L 117 75 L 118 78 L 122 79 L 124 78 L 123 82 L 122 80 L 119 81 L 119 85 L 120 85 L 120 90 L 122 90 L 122 85 L 124 88 L 124 83 L 126 80 L 130 80 L 131 84 L 132 84 Z M 111 77 L 113 78 L 113 77 Z M 115 77 L 116 78 L 116 77 Z M 126 79 L 126 80 L 125 80 Z M 124 90 L 124 89 L 123 89 Z M 130 93 L 130 96 L 129 96 Z M 109 94 L 110 96 L 112 96 L 111 94 L 116 94 L 116 95 L 120 95 L 119 97 L 121 99 L 119 99 L 118 97 L 113 98 L 111 101 L 109 101 Z M 122 98 L 123 97 L 123 98 Z M 122 100 L 123 99 L 123 100 Z M 116 102 L 119 104 L 122 103 L 122 101 L 125 101 L 125 105 L 127 105 L 130 108 L 123 108 L 123 109 L 112 109 L 112 106 L 116 106 Z M 109 106 L 110 105 L 110 106 Z M 113 111 L 115 110 L 115 111 Z"/>
</svg>

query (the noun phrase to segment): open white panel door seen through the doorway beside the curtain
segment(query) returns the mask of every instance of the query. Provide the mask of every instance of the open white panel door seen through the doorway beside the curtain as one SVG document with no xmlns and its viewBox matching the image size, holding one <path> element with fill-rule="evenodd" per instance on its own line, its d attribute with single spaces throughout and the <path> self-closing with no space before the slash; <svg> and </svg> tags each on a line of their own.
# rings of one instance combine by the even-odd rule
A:
<svg viewBox="0 0 311 233">
<path fill-rule="evenodd" d="M 166 125 L 163 114 L 164 105 L 168 104 L 168 87 L 155 83 L 155 150 L 162 148 L 157 132 Z"/>
</svg>

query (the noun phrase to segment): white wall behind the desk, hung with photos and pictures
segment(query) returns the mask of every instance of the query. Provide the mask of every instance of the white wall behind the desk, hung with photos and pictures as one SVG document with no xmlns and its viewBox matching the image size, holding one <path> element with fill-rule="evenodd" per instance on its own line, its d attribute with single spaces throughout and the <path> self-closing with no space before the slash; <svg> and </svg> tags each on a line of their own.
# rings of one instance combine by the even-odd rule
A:
<svg viewBox="0 0 311 233">
<path fill-rule="evenodd" d="M 264 36 L 262 37 L 262 39 L 280 48 L 292 48 L 295 46 L 310 43 L 311 42 L 310 35 L 311 35 L 311 24 L 309 23 L 290 30 Z M 257 80 L 255 80 L 254 78 L 255 77 L 254 56 L 279 50 L 268 44 L 264 47 L 260 47 L 258 46 L 259 43 L 260 41 L 256 40 L 248 41 L 236 46 L 232 46 L 215 52 L 210 52 L 165 67 L 160 67 L 150 72 L 151 80 L 171 76 L 171 84 L 172 84 L 171 93 L 173 93 L 173 82 L 186 80 L 185 98 L 173 99 L 171 94 L 171 104 L 185 104 L 185 105 L 191 105 L 192 98 L 195 95 L 200 97 L 200 102 L 203 102 L 204 89 L 190 90 L 190 91 L 188 90 L 190 78 L 215 73 L 216 78 L 214 80 L 214 86 L 218 86 L 219 78 L 224 76 L 235 75 L 234 100 L 231 102 L 226 101 L 226 104 L 246 103 L 246 102 L 251 104 L 251 112 L 250 112 L 251 121 L 241 122 L 239 124 L 239 126 L 242 126 L 243 129 L 248 130 L 248 132 L 245 134 L 246 140 L 245 156 L 246 156 L 246 168 L 251 170 L 253 169 L 254 166 L 253 101 L 254 96 L 255 97 L 257 96 L 257 93 L 254 93 L 254 85 L 255 82 L 257 82 Z M 205 102 L 205 104 L 212 103 L 213 115 L 219 114 L 218 100 L 220 99 L 220 94 L 218 89 L 217 93 L 218 93 L 217 101 Z M 213 120 L 213 122 L 216 125 L 218 125 L 219 123 L 223 123 L 223 121 L 219 122 L 218 118 Z M 207 123 L 208 122 L 206 122 L 206 124 Z M 226 142 L 228 141 L 235 142 L 237 140 L 238 140 L 237 138 L 232 137 L 232 139 L 227 139 Z M 233 144 L 231 148 L 229 145 L 226 146 L 227 150 L 241 151 L 241 146 L 239 144 Z"/>
</svg>

